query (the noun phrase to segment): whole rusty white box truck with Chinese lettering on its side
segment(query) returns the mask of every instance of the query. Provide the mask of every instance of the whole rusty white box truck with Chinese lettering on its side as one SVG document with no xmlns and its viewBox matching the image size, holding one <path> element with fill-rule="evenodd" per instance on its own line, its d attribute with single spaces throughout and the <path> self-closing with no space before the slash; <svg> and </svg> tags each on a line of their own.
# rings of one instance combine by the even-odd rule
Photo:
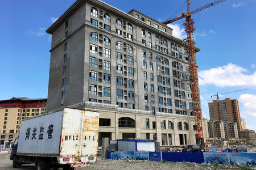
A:
<svg viewBox="0 0 256 170">
<path fill-rule="evenodd" d="M 63 108 L 22 120 L 10 159 L 13 167 L 75 169 L 97 162 L 99 113 Z"/>
</svg>

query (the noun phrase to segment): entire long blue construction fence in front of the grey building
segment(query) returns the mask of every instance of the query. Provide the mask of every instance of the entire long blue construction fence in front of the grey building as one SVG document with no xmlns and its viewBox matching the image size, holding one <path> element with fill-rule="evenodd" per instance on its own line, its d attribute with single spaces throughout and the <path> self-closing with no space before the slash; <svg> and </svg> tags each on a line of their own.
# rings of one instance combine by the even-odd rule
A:
<svg viewBox="0 0 256 170">
<path fill-rule="evenodd" d="M 242 165 L 256 165 L 256 153 L 241 152 L 137 152 L 112 151 L 107 152 L 107 159 L 135 159 L 167 162 L 191 163 L 240 163 Z"/>
</svg>

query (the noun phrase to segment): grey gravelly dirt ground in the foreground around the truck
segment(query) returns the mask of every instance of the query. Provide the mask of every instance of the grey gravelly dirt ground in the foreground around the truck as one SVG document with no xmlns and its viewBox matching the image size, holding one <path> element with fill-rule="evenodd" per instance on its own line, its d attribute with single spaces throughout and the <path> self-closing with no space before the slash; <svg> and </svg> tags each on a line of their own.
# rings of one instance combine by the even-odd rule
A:
<svg viewBox="0 0 256 170">
<path fill-rule="evenodd" d="M 25 170 L 31 169 L 35 170 L 34 164 L 22 165 L 21 168 L 13 168 L 13 162 L 10 160 L 10 154 L 0 155 L 0 169 L 1 170 Z M 133 159 L 123 159 L 123 160 L 102 160 L 98 158 L 98 163 L 90 164 L 89 167 L 75 168 L 80 169 L 136 169 L 136 170 L 148 170 L 148 169 L 256 169 L 255 167 L 246 167 L 242 165 L 206 165 L 206 164 L 196 164 L 196 163 L 174 163 L 174 162 L 152 162 L 145 160 L 133 160 Z"/>
</svg>

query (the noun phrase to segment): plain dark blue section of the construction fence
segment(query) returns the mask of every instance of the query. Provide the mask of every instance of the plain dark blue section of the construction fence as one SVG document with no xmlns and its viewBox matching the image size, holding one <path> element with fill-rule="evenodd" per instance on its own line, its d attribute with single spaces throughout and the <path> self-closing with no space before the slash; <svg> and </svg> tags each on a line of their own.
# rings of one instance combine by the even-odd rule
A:
<svg viewBox="0 0 256 170">
<path fill-rule="evenodd" d="M 168 162 L 194 162 L 203 163 L 203 152 L 162 152 L 162 160 Z"/>
</svg>

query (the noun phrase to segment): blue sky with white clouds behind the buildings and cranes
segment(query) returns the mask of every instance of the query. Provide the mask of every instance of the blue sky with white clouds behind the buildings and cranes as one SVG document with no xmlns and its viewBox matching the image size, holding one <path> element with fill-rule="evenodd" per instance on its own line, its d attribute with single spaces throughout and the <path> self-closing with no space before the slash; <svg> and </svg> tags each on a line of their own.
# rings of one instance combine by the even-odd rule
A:
<svg viewBox="0 0 256 170">
<path fill-rule="evenodd" d="M 0 100 L 11 97 L 47 97 L 51 36 L 45 31 L 75 0 L 0 1 Z M 132 8 L 164 21 L 185 11 L 175 11 L 185 1 L 104 1 L 128 12 Z M 122 3 L 120 3 L 122 2 Z M 210 3 L 191 0 L 191 10 Z M 209 118 L 210 95 L 238 99 L 247 128 L 256 130 L 256 0 L 227 0 L 193 15 L 203 116 Z M 184 19 L 170 26 L 184 37 Z"/>
</svg>

